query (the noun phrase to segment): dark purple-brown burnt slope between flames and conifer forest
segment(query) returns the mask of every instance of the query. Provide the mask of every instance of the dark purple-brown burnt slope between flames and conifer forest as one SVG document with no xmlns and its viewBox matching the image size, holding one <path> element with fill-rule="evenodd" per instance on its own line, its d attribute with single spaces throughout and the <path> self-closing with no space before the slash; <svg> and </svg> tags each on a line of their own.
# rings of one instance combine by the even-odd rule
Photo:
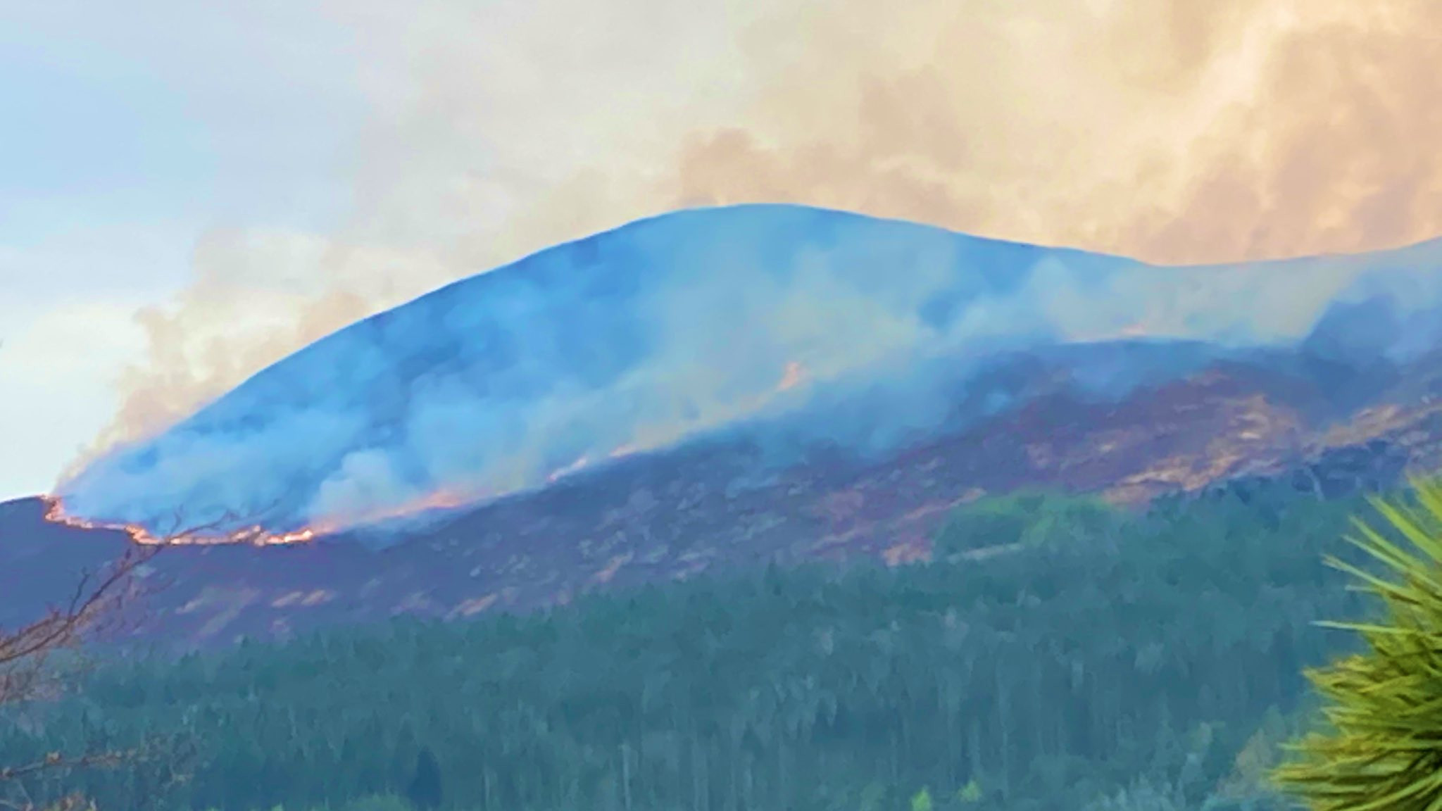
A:
<svg viewBox="0 0 1442 811">
<path fill-rule="evenodd" d="M 1019 359 L 1008 364 L 1022 369 Z M 1044 380 L 1035 367 L 1030 380 Z M 1211 365 L 1122 401 L 1057 388 L 972 430 L 880 459 L 818 453 L 769 479 L 757 450 L 695 444 L 640 455 L 433 522 L 386 544 L 340 535 L 309 544 L 173 547 L 149 629 L 183 644 L 239 634 L 286 638 L 392 613 L 460 618 L 565 603 L 603 587 L 754 567 L 766 560 L 923 558 L 957 505 L 982 492 L 1048 485 L 1142 504 L 1246 479 L 1322 498 L 1442 466 L 1442 362 L 1368 381 L 1298 358 Z M 1292 369 L 1292 371 L 1288 371 Z M 75 567 L 124 535 L 43 520 L 40 501 L 0 507 L 0 622 L 56 599 Z"/>
</svg>

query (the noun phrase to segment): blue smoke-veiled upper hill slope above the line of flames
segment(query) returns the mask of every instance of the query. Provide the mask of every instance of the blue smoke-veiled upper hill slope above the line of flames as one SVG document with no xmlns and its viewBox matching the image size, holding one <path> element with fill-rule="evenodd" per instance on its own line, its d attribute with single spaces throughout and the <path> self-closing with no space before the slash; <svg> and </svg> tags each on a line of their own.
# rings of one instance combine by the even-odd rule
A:
<svg viewBox="0 0 1442 811">
<path fill-rule="evenodd" d="M 1442 242 L 1162 268 L 803 206 L 684 211 L 358 322 L 58 495 L 153 531 L 288 531 L 722 430 L 877 452 L 1031 395 L 1021 362 L 1115 397 L 1250 348 L 1413 356 L 1439 338 L 1439 267 Z"/>
</svg>

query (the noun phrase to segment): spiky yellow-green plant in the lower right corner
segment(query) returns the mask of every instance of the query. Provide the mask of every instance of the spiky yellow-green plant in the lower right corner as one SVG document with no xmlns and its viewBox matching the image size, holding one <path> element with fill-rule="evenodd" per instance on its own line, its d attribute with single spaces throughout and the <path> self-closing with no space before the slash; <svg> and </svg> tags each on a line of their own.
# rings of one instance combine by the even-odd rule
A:
<svg viewBox="0 0 1442 811">
<path fill-rule="evenodd" d="M 1389 532 L 1358 522 L 1351 541 L 1390 579 L 1331 563 L 1380 597 L 1384 615 L 1327 623 L 1357 632 L 1364 649 L 1308 671 L 1327 701 L 1325 724 L 1276 771 L 1314 811 L 1442 807 L 1442 483 L 1419 483 L 1413 499 L 1377 508 Z"/>
</svg>

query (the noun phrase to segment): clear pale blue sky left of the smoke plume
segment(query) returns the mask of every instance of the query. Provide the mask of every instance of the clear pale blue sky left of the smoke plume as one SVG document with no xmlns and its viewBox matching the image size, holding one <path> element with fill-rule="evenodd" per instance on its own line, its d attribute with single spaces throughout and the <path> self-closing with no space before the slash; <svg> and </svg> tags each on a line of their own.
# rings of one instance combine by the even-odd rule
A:
<svg viewBox="0 0 1442 811">
<path fill-rule="evenodd" d="M 0 498 L 48 489 L 111 418 L 133 315 L 189 283 L 206 228 L 343 203 L 353 100 L 290 81 L 234 16 L 136 9 L 0 13 Z"/>
</svg>

